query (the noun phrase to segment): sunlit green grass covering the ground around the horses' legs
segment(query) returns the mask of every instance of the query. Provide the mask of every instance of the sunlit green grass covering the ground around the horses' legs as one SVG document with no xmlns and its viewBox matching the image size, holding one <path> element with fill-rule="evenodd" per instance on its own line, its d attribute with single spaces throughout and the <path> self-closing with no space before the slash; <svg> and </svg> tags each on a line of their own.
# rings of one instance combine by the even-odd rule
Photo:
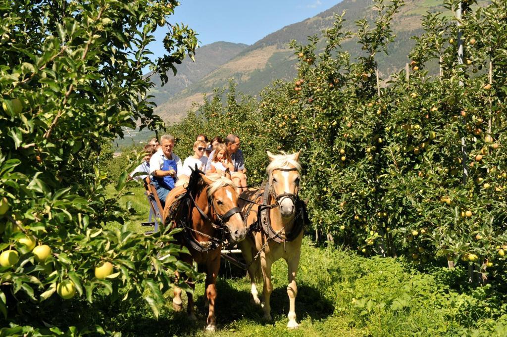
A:
<svg viewBox="0 0 507 337">
<path fill-rule="evenodd" d="M 142 233 L 139 226 L 148 217 L 143 189 L 132 189 L 137 215 L 127 226 Z M 111 223 L 108 226 L 118 226 Z M 219 276 L 216 319 L 221 336 L 504 336 L 507 335 L 507 301 L 501 284 L 473 288 L 463 268 L 448 270 L 429 266 L 415 270 L 403 259 L 366 258 L 340 247 L 316 247 L 305 239 L 299 267 L 296 313 L 300 328 L 288 331 L 286 294 L 287 268 L 284 261 L 273 266 L 271 297 L 273 322 L 262 319 L 262 309 L 250 301 L 246 278 Z M 260 286 L 261 287 L 261 286 Z M 115 302 L 98 298 L 93 305 L 79 302 L 69 315 L 69 324 L 99 324 L 123 336 L 202 336 L 206 333 L 207 309 L 204 285 L 195 290 L 197 322 L 185 312 L 172 309 L 172 291 L 154 317 L 142 302 Z M 186 296 L 184 296 L 186 306 Z M 81 307 L 83 306 L 83 307 Z M 185 308 L 185 307 L 184 307 Z M 79 313 L 79 315 L 77 314 Z M 73 318 L 74 317 L 74 318 Z"/>
</svg>

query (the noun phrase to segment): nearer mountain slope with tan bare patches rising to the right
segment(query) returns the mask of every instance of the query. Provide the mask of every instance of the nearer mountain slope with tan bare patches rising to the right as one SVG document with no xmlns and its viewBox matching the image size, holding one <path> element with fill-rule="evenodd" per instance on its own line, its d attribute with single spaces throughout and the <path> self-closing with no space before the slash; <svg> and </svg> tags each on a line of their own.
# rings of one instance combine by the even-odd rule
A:
<svg viewBox="0 0 507 337">
<path fill-rule="evenodd" d="M 486 1 L 479 3 L 484 4 Z M 387 78 L 392 72 L 403 69 L 409 62 L 407 55 L 414 45 L 410 38 L 421 34 L 420 23 L 426 12 L 448 12 L 442 5 L 443 1 L 438 0 L 405 0 L 405 4 L 393 18 L 391 27 L 396 39 L 389 46 L 388 55 L 376 56 L 381 78 Z M 165 121 L 175 122 L 185 116 L 189 109 L 195 108 L 196 103 L 202 102 L 203 94 L 209 95 L 213 88 L 226 86 L 231 78 L 238 83 L 238 92 L 250 95 L 257 95 L 274 80 L 295 78 L 297 61 L 294 51 L 288 48 L 288 43 L 293 39 L 305 43 L 308 36 L 320 35 L 323 29 L 332 27 L 334 15 L 342 14 L 343 11 L 346 11 L 344 30 L 356 31 L 355 21 L 366 18 L 373 22 L 375 17 L 371 0 L 343 0 L 312 18 L 285 26 L 244 48 L 228 62 L 159 104 L 155 112 Z M 353 57 L 362 53 L 354 39 L 345 42 L 342 47 Z"/>
</svg>

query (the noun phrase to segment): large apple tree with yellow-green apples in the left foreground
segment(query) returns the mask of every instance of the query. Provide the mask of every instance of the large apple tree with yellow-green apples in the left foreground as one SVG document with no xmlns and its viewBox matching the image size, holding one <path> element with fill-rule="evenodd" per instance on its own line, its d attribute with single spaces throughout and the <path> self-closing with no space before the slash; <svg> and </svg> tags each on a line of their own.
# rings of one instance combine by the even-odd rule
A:
<svg viewBox="0 0 507 337">
<path fill-rule="evenodd" d="M 103 139 L 137 122 L 161 125 L 142 72 L 167 79 L 193 57 L 195 32 L 166 24 L 177 5 L 0 1 L 0 315 L 8 335 L 51 324 L 61 313 L 45 307 L 74 296 L 92 302 L 98 290 L 112 301 L 144 298 L 157 313 L 173 282 L 168 271 L 196 276 L 176 261 L 183 251 L 169 229 L 147 237 L 106 226 L 130 214 L 118 206 L 130 168 L 111 196 L 113 179 L 98 165 Z M 152 60 L 158 26 L 168 27 L 167 55 Z"/>
</svg>

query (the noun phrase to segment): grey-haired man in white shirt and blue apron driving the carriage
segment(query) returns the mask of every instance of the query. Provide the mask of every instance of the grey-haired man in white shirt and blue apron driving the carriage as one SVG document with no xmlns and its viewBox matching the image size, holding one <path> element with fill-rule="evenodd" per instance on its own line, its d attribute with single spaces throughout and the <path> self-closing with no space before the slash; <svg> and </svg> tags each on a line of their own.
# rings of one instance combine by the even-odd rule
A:
<svg viewBox="0 0 507 337">
<path fill-rule="evenodd" d="M 150 174 L 152 182 L 157 190 L 158 197 L 162 205 L 165 205 L 165 199 L 174 188 L 178 174 L 183 172 L 182 160 L 172 153 L 174 147 L 174 137 L 163 135 L 160 137 L 162 152 L 157 151 L 150 159 Z"/>
</svg>

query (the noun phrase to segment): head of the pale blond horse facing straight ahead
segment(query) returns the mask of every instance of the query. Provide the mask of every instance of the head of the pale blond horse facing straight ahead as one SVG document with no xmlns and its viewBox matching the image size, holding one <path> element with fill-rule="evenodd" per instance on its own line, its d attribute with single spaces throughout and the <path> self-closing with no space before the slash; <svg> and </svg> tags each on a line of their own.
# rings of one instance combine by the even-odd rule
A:
<svg viewBox="0 0 507 337">
<path fill-rule="evenodd" d="M 273 189 L 273 196 L 284 218 L 293 217 L 296 212 L 296 199 L 299 192 L 301 164 L 298 151 L 292 155 L 282 153 L 273 155 L 267 152 L 271 163 L 266 171 L 269 184 Z"/>
</svg>

